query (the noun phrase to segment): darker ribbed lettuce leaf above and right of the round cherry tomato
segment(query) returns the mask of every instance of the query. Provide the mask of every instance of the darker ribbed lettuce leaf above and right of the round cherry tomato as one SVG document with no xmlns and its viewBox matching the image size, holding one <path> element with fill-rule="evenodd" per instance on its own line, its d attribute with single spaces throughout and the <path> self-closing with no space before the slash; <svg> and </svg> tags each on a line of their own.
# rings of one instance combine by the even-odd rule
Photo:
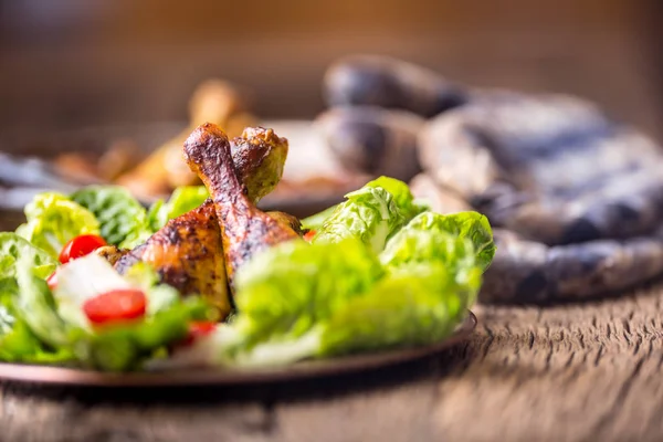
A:
<svg viewBox="0 0 663 442">
<path fill-rule="evenodd" d="M 133 249 L 152 233 L 145 208 L 122 187 L 90 186 L 71 198 L 94 213 L 108 244 Z"/>
</svg>

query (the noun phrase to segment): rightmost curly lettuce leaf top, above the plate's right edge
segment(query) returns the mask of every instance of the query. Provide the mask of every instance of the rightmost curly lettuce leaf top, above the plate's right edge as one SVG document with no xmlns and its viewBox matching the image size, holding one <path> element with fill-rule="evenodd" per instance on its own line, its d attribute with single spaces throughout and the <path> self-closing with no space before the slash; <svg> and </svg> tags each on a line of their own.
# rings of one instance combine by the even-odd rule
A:
<svg viewBox="0 0 663 442">
<path fill-rule="evenodd" d="M 467 240 L 472 252 L 457 240 Z M 495 250 L 491 224 L 481 213 L 424 212 L 393 235 L 381 253 L 380 261 L 388 266 L 398 266 L 407 262 L 442 260 L 448 265 L 461 267 L 469 259 L 467 253 L 473 253 L 477 265 L 485 271 L 493 261 Z M 471 265 L 474 265 L 474 260 Z"/>
</svg>

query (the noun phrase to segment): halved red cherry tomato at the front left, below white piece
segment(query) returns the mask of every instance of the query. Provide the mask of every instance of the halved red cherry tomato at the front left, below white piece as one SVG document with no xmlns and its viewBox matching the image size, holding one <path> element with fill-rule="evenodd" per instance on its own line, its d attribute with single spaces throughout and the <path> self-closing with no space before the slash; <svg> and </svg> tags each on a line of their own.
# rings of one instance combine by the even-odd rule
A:
<svg viewBox="0 0 663 442">
<path fill-rule="evenodd" d="M 137 288 L 104 293 L 83 304 L 85 316 L 93 324 L 108 324 L 145 316 L 147 297 Z"/>
</svg>

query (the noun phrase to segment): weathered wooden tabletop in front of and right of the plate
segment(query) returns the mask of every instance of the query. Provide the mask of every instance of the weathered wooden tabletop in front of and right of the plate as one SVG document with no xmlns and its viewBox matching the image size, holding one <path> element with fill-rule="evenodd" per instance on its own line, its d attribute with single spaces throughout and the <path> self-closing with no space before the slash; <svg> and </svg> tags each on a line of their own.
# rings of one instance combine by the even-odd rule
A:
<svg viewBox="0 0 663 442">
<path fill-rule="evenodd" d="M 472 339 L 362 376 L 246 390 L 2 387 L 7 441 L 655 441 L 663 286 L 583 305 L 478 307 Z"/>
</svg>

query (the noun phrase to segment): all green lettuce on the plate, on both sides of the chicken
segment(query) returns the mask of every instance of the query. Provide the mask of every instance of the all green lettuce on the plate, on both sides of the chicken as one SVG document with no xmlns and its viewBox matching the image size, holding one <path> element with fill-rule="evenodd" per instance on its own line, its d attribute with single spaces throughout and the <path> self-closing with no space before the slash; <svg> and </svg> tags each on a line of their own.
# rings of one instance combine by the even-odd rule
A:
<svg viewBox="0 0 663 442">
<path fill-rule="evenodd" d="M 203 187 L 183 187 L 146 210 L 118 187 L 35 197 L 27 223 L 0 233 L 0 360 L 112 371 L 192 357 L 262 367 L 431 344 L 463 319 L 495 254 L 484 215 L 434 213 L 404 182 L 380 177 L 304 220 L 316 232 L 311 243 L 278 244 L 239 269 L 236 312 L 186 348 L 176 344 L 210 307 L 161 284 L 148 264 L 119 275 L 90 254 L 57 266 L 75 236 L 133 248 L 207 198 Z M 91 299 L 122 291 L 144 296 L 141 316 L 94 323 Z"/>
</svg>

